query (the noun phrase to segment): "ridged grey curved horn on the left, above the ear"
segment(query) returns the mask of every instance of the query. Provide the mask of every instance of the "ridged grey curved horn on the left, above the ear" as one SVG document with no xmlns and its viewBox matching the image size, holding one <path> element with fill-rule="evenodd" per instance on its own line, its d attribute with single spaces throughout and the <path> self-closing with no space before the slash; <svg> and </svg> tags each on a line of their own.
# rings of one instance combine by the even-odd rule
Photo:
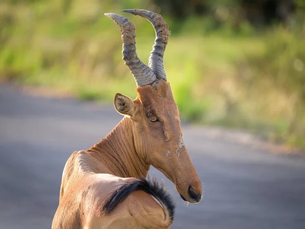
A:
<svg viewBox="0 0 305 229">
<path fill-rule="evenodd" d="M 123 41 L 123 60 L 135 77 L 138 86 L 144 86 L 153 83 L 157 77 L 150 68 L 143 64 L 136 53 L 136 32 L 135 26 L 127 18 L 106 13 L 107 17 L 119 25 Z"/>
</svg>

